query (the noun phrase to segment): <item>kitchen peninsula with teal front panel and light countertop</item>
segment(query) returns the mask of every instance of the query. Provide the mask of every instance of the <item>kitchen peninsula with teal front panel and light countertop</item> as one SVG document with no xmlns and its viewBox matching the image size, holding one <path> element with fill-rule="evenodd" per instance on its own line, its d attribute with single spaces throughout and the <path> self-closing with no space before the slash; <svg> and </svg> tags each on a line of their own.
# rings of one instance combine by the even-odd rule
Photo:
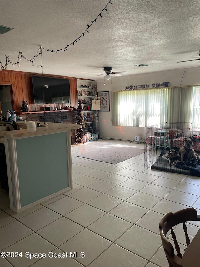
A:
<svg viewBox="0 0 200 267">
<path fill-rule="evenodd" d="M 72 188 L 70 130 L 81 127 L 48 122 L 48 126 L 39 128 L 0 131 L 5 144 L 10 208 L 14 212 Z"/>
</svg>

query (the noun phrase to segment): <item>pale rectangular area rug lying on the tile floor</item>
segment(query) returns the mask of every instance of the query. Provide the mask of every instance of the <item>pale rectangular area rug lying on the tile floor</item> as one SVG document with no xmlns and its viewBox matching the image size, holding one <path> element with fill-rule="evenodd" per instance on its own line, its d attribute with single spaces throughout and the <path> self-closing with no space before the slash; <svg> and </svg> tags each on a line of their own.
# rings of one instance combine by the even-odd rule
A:
<svg viewBox="0 0 200 267">
<path fill-rule="evenodd" d="M 100 150 L 91 151 L 89 153 L 85 153 L 77 157 L 83 157 L 101 162 L 117 164 L 129 158 L 138 156 L 142 153 L 144 153 L 144 149 L 120 146 L 120 147 L 102 148 Z"/>
</svg>

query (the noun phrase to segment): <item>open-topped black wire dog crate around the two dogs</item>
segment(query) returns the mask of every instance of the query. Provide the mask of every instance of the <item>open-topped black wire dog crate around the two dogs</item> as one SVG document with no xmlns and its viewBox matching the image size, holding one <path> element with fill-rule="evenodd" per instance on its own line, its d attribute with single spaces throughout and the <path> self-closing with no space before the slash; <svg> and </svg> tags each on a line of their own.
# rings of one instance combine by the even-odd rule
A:
<svg viewBox="0 0 200 267">
<path fill-rule="evenodd" d="M 159 133 L 159 136 L 158 133 Z M 189 171 L 176 168 L 174 164 L 170 164 L 167 158 L 160 158 L 161 153 L 164 153 L 164 134 L 162 131 L 168 131 L 168 137 L 171 149 L 179 151 L 180 147 L 183 146 L 183 140 L 187 137 L 199 136 L 200 135 L 200 123 L 195 124 L 195 129 L 192 128 L 192 123 L 176 123 L 176 122 L 165 122 L 152 126 L 145 126 L 145 155 L 144 155 L 144 166 L 165 172 L 176 172 L 190 174 Z M 165 136 L 166 137 L 166 136 Z M 161 140 L 160 140 L 161 138 Z M 155 144 L 157 140 L 157 144 Z M 200 139 L 195 140 L 193 148 L 196 153 L 200 154 Z M 167 147 L 167 151 L 169 147 Z"/>
</svg>

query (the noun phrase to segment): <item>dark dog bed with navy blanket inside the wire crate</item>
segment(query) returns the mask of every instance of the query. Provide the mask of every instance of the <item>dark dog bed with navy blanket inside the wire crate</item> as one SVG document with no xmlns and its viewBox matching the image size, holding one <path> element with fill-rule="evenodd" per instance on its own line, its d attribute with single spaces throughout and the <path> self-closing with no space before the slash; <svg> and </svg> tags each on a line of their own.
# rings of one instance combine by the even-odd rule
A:
<svg viewBox="0 0 200 267">
<path fill-rule="evenodd" d="M 158 160 L 151 166 L 152 169 L 200 177 L 200 161 L 183 161 L 177 162 L 175 165 L 173 165 L 168 162 L 167 158 L 163 157 L 166 152 L 167 151 L 163 149 Z"/>
</svg>

